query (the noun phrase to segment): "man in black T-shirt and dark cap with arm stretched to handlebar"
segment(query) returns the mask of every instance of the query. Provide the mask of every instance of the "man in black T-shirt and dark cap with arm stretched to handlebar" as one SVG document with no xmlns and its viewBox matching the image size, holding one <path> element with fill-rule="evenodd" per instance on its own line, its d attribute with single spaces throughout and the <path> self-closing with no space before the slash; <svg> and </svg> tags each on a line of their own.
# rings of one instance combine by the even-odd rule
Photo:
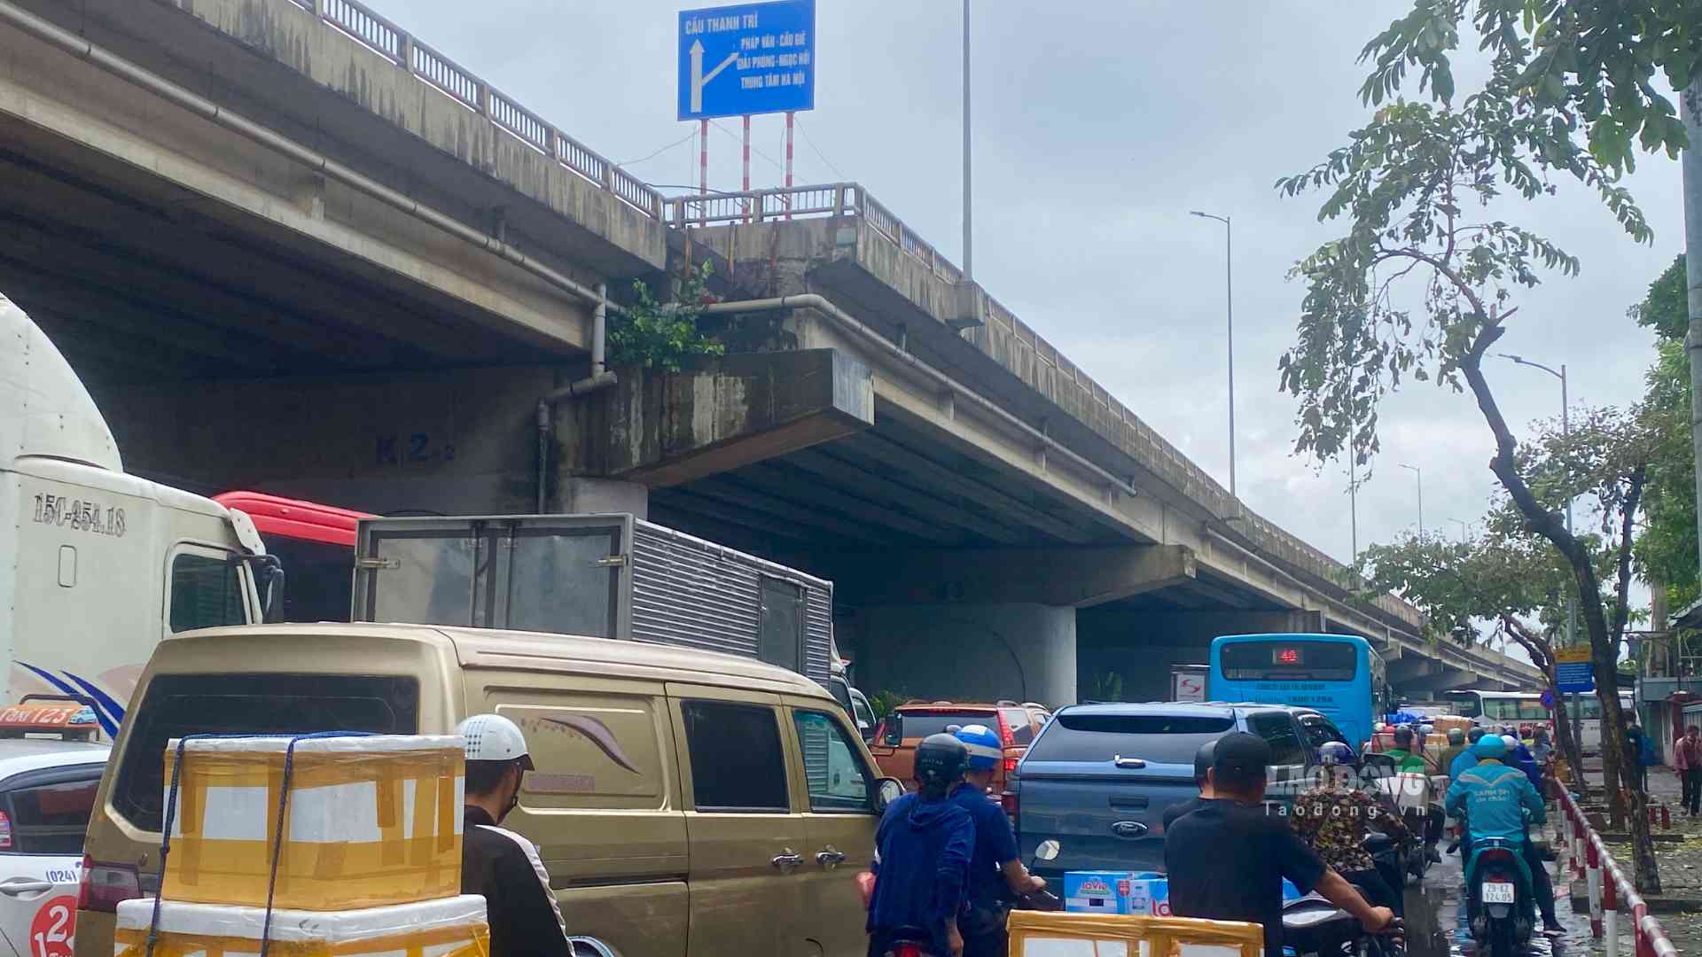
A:
<svg viewBox="0 0 1702 957">
<path fill-rule="evenodd" d="M 1271 749 L 1263 737 L 1231 732 L 1212 754 L 1214 799 L 1164 834 L 1171 913 L 1179 918 L 1251 921 L 1265 926 L 1265 957 L 1282 957 L 1282 879 L 1317 891 L 1370 931 L 1394 920 L 1374 908 L 1339 874 L 1324 867 L 1288 821 L 1266 814 L 1265 775 Z"/>
</svg>

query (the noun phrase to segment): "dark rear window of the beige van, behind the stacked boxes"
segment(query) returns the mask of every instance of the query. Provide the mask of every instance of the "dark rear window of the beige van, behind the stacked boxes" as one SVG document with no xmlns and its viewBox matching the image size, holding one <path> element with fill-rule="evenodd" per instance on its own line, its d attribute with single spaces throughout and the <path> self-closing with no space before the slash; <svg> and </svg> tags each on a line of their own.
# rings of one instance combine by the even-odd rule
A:
<svg viewBox="0 0 1702 957">
<path fill-rule="evenodd" d="M 148 683 L 112 785 L 112 807 L 158 831 L 165 746 L 186 734 L 414 734 L 419 681 L 371 674 L 160 674 Z"/>
</svg>

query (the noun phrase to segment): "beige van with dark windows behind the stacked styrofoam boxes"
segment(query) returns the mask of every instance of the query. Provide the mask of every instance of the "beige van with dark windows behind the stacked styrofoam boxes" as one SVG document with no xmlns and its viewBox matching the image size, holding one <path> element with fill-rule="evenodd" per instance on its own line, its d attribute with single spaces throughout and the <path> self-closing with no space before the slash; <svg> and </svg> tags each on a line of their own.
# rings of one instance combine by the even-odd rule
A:
<svg viewBox="0 0 1702 957">
<path fill-rule="evenodd" d="M 791 671 L 608 639 L 248 625 L 162 642 L 131 705 L 89 824 L 77 957 L 112 957 L 116 903 L 158 887 L 167 739 L 449 732 L 480 712 L 526 731 L 538 770 L 504 826 L 538 843 L 568 933 L 623 957 L 868 950 L 856 874 L 892 783 Z"/>
</svg>

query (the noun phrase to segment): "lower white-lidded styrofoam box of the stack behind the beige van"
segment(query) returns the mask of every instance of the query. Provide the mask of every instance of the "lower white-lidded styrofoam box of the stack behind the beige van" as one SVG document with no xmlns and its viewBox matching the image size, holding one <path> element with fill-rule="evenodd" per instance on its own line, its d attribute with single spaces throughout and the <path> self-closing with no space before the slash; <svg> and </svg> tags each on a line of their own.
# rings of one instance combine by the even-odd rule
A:
<svg viewBox="0 0 1702 957">
<path fill-rule="evenodd" d="M 143 957 L 153 901 L 117 906 L 112 957 Z M 160 901 L 153 957 L 260 954 L 266 908 Z M 485 899 L 443 897 L 356 911 L 272 911 L 269 954 L 288 957 L 488 957 Z"/>
</svg>

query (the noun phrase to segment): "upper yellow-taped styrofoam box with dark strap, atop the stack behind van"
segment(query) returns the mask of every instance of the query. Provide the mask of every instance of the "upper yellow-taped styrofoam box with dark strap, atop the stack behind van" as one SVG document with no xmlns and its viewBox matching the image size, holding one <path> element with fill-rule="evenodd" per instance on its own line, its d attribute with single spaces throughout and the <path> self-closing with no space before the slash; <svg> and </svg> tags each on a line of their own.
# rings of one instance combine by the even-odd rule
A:
<svg viewBox="0 0 1702 957">
<path fill-rule="evenodd" d="M 289 741 L 189 739 L 165 899 L 266 906 Z M 172 741 L 167 799 L 175 761 Z M 456 736 L 296 741 L 272 904 L 349 911 L 460 894 L 465 787 Z"/>
</svg>

